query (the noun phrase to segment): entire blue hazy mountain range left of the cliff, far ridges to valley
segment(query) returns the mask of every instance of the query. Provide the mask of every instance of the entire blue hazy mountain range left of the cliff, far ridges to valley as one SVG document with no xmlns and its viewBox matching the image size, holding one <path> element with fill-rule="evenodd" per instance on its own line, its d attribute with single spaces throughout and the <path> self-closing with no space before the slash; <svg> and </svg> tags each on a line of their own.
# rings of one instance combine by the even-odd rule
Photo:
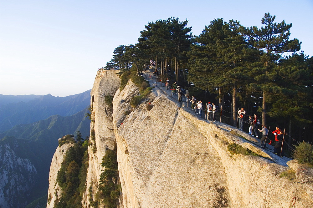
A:
<svg viewBox="0 0 313 208">
<path fill-rule="evenodd" d="M 0 207 L 34 207 L 47 195 L 58 139 L 77 131 L 84 139 L 89 136 L 90 120 L 85 117 L 89 105 L 90 90 L 63 98 L 48 94 L 0 107 L 2 127 L 8 128 L 8 121 L 14 124 L 0 132 Z"/>
</svg>

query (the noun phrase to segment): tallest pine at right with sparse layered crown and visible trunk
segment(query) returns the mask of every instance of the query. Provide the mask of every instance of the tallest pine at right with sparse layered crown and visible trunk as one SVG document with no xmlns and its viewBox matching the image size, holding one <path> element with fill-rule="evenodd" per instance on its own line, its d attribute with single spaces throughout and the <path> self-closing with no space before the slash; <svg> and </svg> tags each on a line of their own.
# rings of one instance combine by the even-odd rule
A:
<svg viewBox="0 0 313 208">
<path fill-rule="evenodd" d="M 272 76 L 275 76 L 275 62 L 281 58 L 282 53 L 299 51 L 301 44 L 296 38 L 289 40 L 291 23 L 286 24 L 284 20 L 281 23 L 275 23 L 274 20 L 275 15 L 271 16 L 269 13 L 265 13 L 264 18 L 262 18 L 264 27 L 260 29 L 255 26 L 247 29 L 242 28 L 243 33 L 249 38 L 249 43 L 253 45 L 254 48 L 264 52 L 264 55 L 261 57 L 263 66 L 258 68 L 258 73 L 255 74 L 257 86 L 254 86 L 255 89 L 262 91 L 263 125 L 266 124 L 267 95 L 275 91 L 275 87 L 271 81 Z"/>
</svg>

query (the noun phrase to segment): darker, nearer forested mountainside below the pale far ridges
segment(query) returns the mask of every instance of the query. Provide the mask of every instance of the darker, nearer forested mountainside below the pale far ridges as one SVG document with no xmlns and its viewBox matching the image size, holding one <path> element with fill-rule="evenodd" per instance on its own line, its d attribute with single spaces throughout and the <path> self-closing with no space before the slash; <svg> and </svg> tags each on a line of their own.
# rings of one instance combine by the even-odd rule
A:
<svg viewBox="0 0 313 208">
<path fill-rule="evenodd" d="M 70 106 L 69 103 L 64 102 L 59 104 L 59 106 L 62 105 Z M 48 108 L 48 106 L 46 107 Z M 74 111 L 75 108 L 69 108 L 69 110 Z M 8 180 L 0 183 L 0 200 L 3 198 L 8 204 L 6 207 L 25 207 L 33 200 L 47 194 L 49 168 L 58 146 L 58 139 L 66 134 L 76 135 L 77 131 L 82 133 L 83 138 L 89 135 L 90 120 L 85 117 L 87 112 L 89 111 L 85 108 L 71 116 L 52 115 L 47 119 L 31 124 L 16 125 L 0 134 L 0 153 L 8 152 L 15 155 L 12 160 L 3 162 L 11 164 L 9 167 L 12 168 L 1 164 L 0 178 L 8 178 Z M 36 171 L 32 172 L 31 177 L 28 172 L 21 172 L 20 161 L 22 160 L 29 161 L 28 166 L 35 168 Z M 17 173 L 21 176 L 12 178 Z M 27 180 L 28 178 L 29 180 Z M 24 180 L 21 184 L 12 185 L 12 181 L 19 183 L 19 179 Z"/>
</svg>

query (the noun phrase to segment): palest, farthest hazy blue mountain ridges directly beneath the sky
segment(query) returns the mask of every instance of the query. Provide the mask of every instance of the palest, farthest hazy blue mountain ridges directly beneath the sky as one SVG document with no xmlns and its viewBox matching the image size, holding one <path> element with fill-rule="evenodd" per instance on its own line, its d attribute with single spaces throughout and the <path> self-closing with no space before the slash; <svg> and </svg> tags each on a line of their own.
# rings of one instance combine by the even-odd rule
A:
<svg viewBox="0 0 313 208">
<path fill-rule="evenodd" d="M 30 124 L 47 119 L 51 115 L 69 116 L 90 105 L 90 90 L 66 97 L 51 94 L 37 97 L 28 102 L 10 103 L 0 106 L 0 132 L 18 124 Z"/>
</svg>

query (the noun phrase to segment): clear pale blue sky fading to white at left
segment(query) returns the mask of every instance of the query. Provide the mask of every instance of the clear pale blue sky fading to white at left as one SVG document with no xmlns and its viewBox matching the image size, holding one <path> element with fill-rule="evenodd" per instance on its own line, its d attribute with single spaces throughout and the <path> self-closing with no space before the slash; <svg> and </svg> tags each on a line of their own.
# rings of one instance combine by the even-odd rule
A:
<svg viewBox="0 0 313 208">
<path fill-rule="evenodd" d="M 199 35 L 214 18 L 262 26 L 264 13 L 292 23 L 290 39 L 313 56 L 313 0 L 0 0 L 0 94 L 68 96 L 91 89 L 120 45 L 148 22 L 179 17 Z"/>
</svg>

